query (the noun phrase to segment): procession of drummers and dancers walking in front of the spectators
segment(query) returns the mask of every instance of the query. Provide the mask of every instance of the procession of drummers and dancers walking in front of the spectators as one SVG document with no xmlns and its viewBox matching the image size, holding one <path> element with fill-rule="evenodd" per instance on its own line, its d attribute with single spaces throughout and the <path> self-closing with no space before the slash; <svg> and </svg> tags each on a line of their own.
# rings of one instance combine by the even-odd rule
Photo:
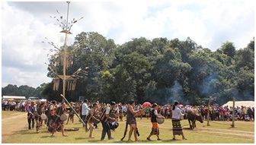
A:
<svg viewBox="0 0 256 145">
<path fill-rule="evenodd" d="M 123 115 L 120 115 L 120 109 L 123 112 L 123 107 L 120 107 L 120 104 L 116 104 L 114 101 L 107 104 L 100 104 L 99 102 L 90 103 L 88 102 L 88 99 L 85 99 L 84 102 L 80 103 L 80 106 L 75 106 L 73 102 L 70 102 L 70 105 L 72 108 L 67 107 L 66 102 L 29 102 L 29 107 L 27 109 L 28 129 L 33 130 L 36 122 L 37 133 L 39 133 L 44 120 L 48 131 L 51 133 L 50 137 L 55 137 L 56 131 L 58 130 L 62 131 L 63 137 L 68 137 L 64 130 L 65 121 L 63 121 L 61 117 L 68 113 L 69 117 L 67 117 L 68 120 L 66 124 L 69 123 L 69 120 L 73 123 L 74 115 L 75 113 L 78 113 L 81 115 L 81 119 L 85 123 L 83 124 L 85 131 L 89 131 L 89 138 L 94 138 L 92 135 L 93 130 L 97 127 L 98 123 L 101 122 L 103 128 L 101 132 L 101 140 L 105 140 L 106 135 L 108 140 L 114 139 L 111 135 L 111 130 L 118 128 L 118 120 L 123 121 Z M 173 140 L 176 140 L 175 135 L 182 135 L 182 138 L 187 140 L 187 138 L 184 137 L 181 128 L 180 116 L 184 114 L 181 112 L 178 105 L 178 102 L 174 102 L 172 110 Z M 152 131 L 150 131 L 149 136 L 146 139 L 151 140 L 152 135 L 156 135 L 157 140 L 162 140 L 159 137 L 160 131 L 158 128 L 157 118 L 165 117 L 158 115 L 158 107 L 159 106 L 154 103 L 152 106 L 140 106 L 139 108 L 136 108 L 134 100 L 131 100 L 126 105 L 126 131 L 128 125 L 130 126 L 128 141 L 133 141 L 132 136 L 134 136 L 134 141 L 139 141 L 139 130 L 136 118 L 141 116 L 146 110 L 149 110 L 150 121 L 152 122 Z M 42 114 L 46 115 L 47 119 L 42 118 Z M 126 134 L 124 134 L 124 137 L 125 135 Z"/>
</svg>

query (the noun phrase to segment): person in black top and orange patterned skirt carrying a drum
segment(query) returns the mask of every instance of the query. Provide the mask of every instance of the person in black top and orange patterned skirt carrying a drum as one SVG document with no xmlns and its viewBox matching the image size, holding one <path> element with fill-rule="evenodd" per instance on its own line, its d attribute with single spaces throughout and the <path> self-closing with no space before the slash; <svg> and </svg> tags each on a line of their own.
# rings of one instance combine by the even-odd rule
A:
<svg viewBox="0 0 256 145">
<path fill-rule="evenodd" d="M 157 122 L 156 118 L 165 118 L 165 117 L 164 116 L 162 116 L 162 117 L 158 116 L 157 109 L 158 109 L 158 105 L 156 103 L 154 103 L 152 105 L 152 111 L 151 111 L 152 130 L 149 134 L 149 137 L 146 138 L 147 140 L 151 140 L 150 137 L 152 135 L 156 135 L 157 140 L 162 140 L 159 137 L 159 128 L 158 128 L 158 122 Z"/>
</svg>

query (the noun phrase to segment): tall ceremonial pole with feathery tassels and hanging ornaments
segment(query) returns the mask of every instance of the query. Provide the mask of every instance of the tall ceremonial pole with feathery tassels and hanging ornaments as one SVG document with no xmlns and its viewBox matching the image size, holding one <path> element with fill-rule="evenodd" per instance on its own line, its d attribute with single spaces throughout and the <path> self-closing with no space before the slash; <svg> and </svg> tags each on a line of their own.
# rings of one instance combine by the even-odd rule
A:
<svg viewBox="0 0 256 145">
<path fill-rule="evenodd" d="M 63 84 L 62 85 L 62 95 L 63 96 L 65 96 L 66 90 L 75 90 L 77 79 L 82 77 L 78 74 L 87 75 L 87 71 L 82 71 L 82 68 L 78 68 L 78 70 L 75 71 L 75 73 L 73 73 L 72 75 L 66 75 L 66 69 L 71 67 L 73 64 L 72 55 L 69 52 L 67 52 L 68 34 L 72 34 L 70 32 L 70 30 L 71 30 L 73 24 L 75 24 L 78 21 L 78 20 L 73 19 L 69 23 L 69 4 L 70 4 L 70 2 L 67 2 L 67 4 L 68 4 L 68 11 L 67 11 L 66 20 L 64 20 L 62 16 L 60 16 L 59 19 L 56 17 L 52 17 L 52 18 L 56 18 L 56 20 L 58 21 L 59 24 L 56 24 L 56 25 L 58 25 L 59 27 L 62 28 L 60 33 L 65 33 L 65 39 L 63 39 L 63 41 L 64 41 L 63 49 L 59 49 L 59 47 L 55 46 L 53 42 L 49 43 L 50 45 L 52 45 L 54 47 L 54 49 L 50 49 L 50 51 L 55 52 L 55 54 L 51 55 L 50 59 L 52 62 L 50 65 L 48 65 L 50 68 L 50 71 L 52 71 L 53 75 L 54 75 L 53 90 L 59 90 L 59 80 L 61 79 L 62 84 Z M 57 10 L 57 13 L 59 14 L 58 10 Z M 81 20 L 82 18 L 83 17 L 81 17 L 79 20 Z M 56 67 L 59 65 L 63 66 L 62 75 L 59 75 L 57 73 Z M 62 98 L 62 102 L 65 102 L 65 99 Z"/>
</svg>

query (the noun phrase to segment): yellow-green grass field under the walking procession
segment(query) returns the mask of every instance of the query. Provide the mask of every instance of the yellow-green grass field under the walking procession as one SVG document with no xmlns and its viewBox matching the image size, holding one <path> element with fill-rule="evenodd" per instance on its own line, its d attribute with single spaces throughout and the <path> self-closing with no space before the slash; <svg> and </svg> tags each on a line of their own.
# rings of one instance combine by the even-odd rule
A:
<svg viewBox="0 0 256 145">
<path fill-rule="evenodd" d="M 8 113 L 15 112 L 2 112 L 2 118 L 9 116 Z M 235 121 L 235 128 L 231 128 L 231 121 L 210 121 L 210 126 L 206 125 L 207 121 L 204 121 L 203 124 L 197 122 L 197 128 L 192 131 L 189 129 L 188 121 L 183 120 L 181 124 L 184 126 L 184 135 L 187 140 L 182 140 L 181 136 L 176 137 L 178 140 L 172 140 L 171 119 L 165 119 L 162 125 L 158 125 L 162 140 L 156 140 L 157 138 L 152 136 L 152 141 L 146 140 L 152 128 L 150 120 L 137 118 L 137 122 L 140 141 L 129 143 L 254 143 L 254 121 Z M 98 124 L 98 129 L 94 129 L 93 139 L 88 138 L 89 133 L 85 132 L 76 116 L 74 125 L 71 125 L 69 121 L 69 125 L 65 125 L 65 127 L 79 128 L 79 130 L 66 131 L 69 137 L 62 137 L 61 132 L 57 132 L 56 137 L 50 137 L 51 134 L 44 125 L 40 129 L 40 133 L 36 134 L 35 130 L 28 131 L 27 124 L 25 124 L 21 131 L 14 131 L 14 134 L 11 134 L 8 140 L 2 143 L 128 143 L 130 130 L 129 128 L 124 140 L 120 141 L 120 138 L 123 137 L 125 121 L 119 121 L 119 128 L 116 131 L 111 131 L 114 140 L 107 140 L 106 135 L 106 140 L 101 141 L 101 123 Z"/>
</svg>

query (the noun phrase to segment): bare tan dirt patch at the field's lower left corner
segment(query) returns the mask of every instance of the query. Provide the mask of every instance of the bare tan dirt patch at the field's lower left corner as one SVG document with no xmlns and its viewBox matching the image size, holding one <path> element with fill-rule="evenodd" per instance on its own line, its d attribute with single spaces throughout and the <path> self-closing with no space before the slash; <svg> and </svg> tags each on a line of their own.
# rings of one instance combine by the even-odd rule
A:
<svg viewBox="0 0 256 145">
<path fill-rule="evenodd" d="M 27 112 L 15 112 L 8 118 L 2 118 L 2 143 L 11 140 L 11 134 L 26 127 L 28 129 Z"/>
</svg>

